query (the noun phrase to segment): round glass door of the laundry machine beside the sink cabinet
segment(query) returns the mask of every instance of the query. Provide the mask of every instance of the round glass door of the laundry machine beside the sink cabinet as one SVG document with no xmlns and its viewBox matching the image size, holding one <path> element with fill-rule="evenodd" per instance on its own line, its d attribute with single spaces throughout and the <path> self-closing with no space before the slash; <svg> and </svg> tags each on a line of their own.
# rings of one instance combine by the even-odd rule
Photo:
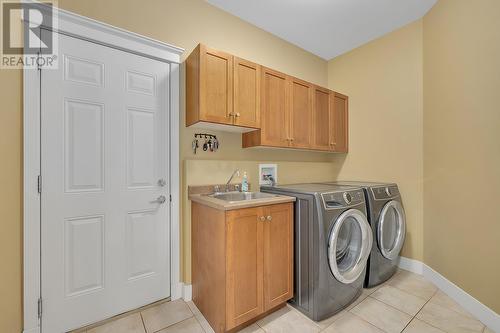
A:
<svg viewBox="0 0 500 333">
<path fill-rule="evenodd" d="M 373 236 L 364 213 L 350 209 L 333 224 L 328 241 L 328 262 L 333 276 L 343 283 L 359 278 L 370 255 Z"/>
</svg>

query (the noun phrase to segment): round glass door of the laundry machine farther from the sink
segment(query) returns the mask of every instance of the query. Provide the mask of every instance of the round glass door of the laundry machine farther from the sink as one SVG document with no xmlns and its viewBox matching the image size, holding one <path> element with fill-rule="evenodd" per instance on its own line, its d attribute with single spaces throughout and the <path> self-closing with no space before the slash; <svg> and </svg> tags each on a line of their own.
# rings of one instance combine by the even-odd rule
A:
<svg viewBox="0 0 500 333">
<path fill-rule="evenodd" d="M 377 241 L 384 257 L 394 260 L 403 247 L 406 234 L 406 217 L 398 201 L 389 201 L 380 213 Z"/>
</svg>

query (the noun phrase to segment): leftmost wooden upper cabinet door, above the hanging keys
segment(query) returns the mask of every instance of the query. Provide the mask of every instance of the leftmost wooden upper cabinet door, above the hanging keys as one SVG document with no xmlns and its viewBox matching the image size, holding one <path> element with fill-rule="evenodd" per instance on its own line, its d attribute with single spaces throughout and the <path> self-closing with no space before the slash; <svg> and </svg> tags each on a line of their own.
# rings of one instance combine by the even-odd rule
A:
<svg viewBox="0 0 500 333">
<path fill-rule="evenodd" d="M 200 118 L 233 123 L 233 56 L 200 45 Z"/>
</svg>

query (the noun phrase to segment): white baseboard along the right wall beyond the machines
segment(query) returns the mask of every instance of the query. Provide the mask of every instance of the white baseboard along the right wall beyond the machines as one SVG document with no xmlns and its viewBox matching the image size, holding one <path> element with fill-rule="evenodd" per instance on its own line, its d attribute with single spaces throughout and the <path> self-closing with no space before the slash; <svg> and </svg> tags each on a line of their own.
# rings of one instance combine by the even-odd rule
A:
<svg viewBox="0 0 500 333">
<path fill-rule="evenodd" d="M 500 315 L 421 261 L 400 257 L 399 268 L 423 275 L 494 332 L 500 332 Z"/>
</svg>

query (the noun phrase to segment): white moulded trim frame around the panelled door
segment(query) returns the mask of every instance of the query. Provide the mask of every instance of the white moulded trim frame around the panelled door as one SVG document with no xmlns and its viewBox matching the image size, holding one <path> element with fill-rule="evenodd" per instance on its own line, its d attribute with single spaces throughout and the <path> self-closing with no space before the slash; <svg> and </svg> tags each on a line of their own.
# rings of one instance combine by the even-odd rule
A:
<svg viewBox="0 0 500 333">
<path fill-rule="evenodd" d="M 25 0 L 26 1 L 26 0 Z M 28 0 L 41 12 L 52 11 L 57 24 L 49 30 L 170 64 L 170 294 L 183 296 L 180 275 L 180 56 L 184 49 L 84 16 Z M 43 25 L 41 28 L 47 29 Z M 41 196 L 40 71 L 23 69 L 23 332 L 40 332 Z"/>
</svg>

